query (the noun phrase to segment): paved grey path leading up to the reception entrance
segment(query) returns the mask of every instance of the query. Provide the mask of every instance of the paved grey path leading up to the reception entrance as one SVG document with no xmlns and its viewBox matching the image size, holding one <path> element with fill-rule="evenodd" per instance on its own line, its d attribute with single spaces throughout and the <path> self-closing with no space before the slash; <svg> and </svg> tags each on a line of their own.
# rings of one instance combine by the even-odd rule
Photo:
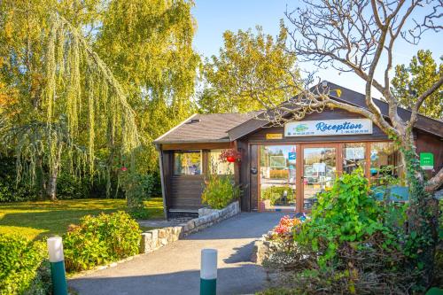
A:
<svg viewBox="0 0 443 295">
<path fill-rule="evenodd" d="M 114 268 L 69 280 L 80 295 L 199 293 L 200 250 L 218 249 L 217 294 L 248 294 L 264 288 L 263 269 L 251 262 L 253 241 L 283 213 L 241 213 L 159 250 Z"/>
</svg>

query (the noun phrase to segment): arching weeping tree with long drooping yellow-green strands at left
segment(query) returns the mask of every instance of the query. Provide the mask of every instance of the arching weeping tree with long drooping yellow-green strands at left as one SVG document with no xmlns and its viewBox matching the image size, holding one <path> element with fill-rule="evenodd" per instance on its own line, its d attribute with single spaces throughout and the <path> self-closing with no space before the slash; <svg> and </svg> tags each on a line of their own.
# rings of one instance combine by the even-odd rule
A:
<svg viewBox="0 0 443 295">
<path fill-rule="evenodd" d="M 129 168 L 134 166 L 133 155 L 139 145 L 135 113 L 119 82 L 79 29 L 54 14 L 49 33 L 42 104 L 45 114 L 42 120 L 35 118 L 10 128 L 6 136 L 9 142 L 15 141 L 18 181 L 35 183 L 39 171 L 47 167 L 47 192 L 55 198 L 61 159 L 66 159 L 63 163 L 68 167 L 64 168 L 73 175 L 105 170 L 109 193 L 114 159 Z M 97 167 L 97 143 L 107 152 L 105 167 Z"/>
</svg>

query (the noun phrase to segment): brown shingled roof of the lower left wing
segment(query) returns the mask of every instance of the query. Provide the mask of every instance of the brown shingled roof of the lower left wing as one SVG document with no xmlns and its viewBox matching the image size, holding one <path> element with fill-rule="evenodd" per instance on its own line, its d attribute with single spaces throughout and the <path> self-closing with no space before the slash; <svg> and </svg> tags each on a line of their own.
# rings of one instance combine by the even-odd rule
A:
<svg viewBox="0 0 443 295">
<path fill-rule="evenodd" d="M 250 120 L 257 113 L 196 113 L 159 136 L 154 144 L 229 142 L 229 129 Z"/>
</svg>

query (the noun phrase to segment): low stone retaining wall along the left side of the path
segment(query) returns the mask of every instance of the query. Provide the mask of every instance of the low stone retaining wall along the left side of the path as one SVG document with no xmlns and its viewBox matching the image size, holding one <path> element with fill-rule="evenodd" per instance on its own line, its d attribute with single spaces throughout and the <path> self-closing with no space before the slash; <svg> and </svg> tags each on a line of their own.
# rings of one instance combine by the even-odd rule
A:
<svg viewBox="0 0 443 295">
<path fill-rule="evenodd" d="M 181 223 L 175 227 L 152 229 L 142 233 L 140 253 L 155 251 L 192 233 L 198 232 L 201 229 L 206 229 L 215 223 L 237 215 L 238 213 L 240 213 L 240 205 L 238 201 L 221 210 L 208 208 L 199 209 L 198 218 Z"/>
</svg>

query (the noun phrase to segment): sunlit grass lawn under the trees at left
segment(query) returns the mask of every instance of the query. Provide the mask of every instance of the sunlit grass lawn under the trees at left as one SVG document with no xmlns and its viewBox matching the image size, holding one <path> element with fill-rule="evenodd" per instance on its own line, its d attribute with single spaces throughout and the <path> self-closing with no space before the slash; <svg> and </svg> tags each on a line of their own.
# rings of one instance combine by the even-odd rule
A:
<svg viewBox="0 0 443 295">
<path fill-rule="evenodd" d="M 150 218 L 163 218 L 161 198 L 151 198 L 145 205 Z M 62 235 L 69 224 L 78 224 L 84 215 L 120 210 L 126 210 L 125 199 L 87 198 L 56 202 L 0 203 L 0 233 L 40 240 L 51 235 Z"/>
</svg>

